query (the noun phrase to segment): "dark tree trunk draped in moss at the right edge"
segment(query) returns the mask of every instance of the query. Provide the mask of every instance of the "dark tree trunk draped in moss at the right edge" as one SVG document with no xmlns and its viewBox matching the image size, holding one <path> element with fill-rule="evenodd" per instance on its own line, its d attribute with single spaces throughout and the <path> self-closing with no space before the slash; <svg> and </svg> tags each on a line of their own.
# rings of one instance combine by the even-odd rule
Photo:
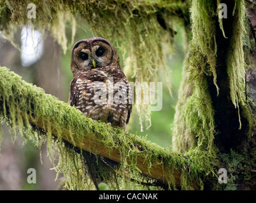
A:
<svg viewBox="0 0 256 203">
<path fill-rule="evenodd" d="M 220 3 L 227 5 L 227 18 L 218 16 Z M 183 67 L 173 148 L 206 150 L 219 164 L 215 173 L 227 169 L 227 184 L 208 179 L 205 189 L 255 189 L 255 112 L 245 89 L 245 58 L 250 58 L 246 13 L 240 0 L 192 1 L 193 37 Z"/>
</svg>

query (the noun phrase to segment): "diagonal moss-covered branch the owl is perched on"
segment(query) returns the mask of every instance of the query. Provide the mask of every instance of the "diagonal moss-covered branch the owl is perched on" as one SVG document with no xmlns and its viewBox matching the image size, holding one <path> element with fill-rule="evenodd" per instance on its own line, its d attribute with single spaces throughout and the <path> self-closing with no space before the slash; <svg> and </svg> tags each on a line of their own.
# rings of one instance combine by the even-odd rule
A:
<svg viewBox="0 0 256 203">
<path fill-rule="evenodd" d="M 36 136 L 31 124 L 82 150 L 126 162 L 132 173 L 137 171 L 169 187 L 198 189 L 204 174 L 204 156 L 188 158 L 122 129 L 93 121 L 5 67 L 0 68 L 0 121 L 10 124 L 13 132 L 18 129 L 36 145 L 42 138 Z M 29 131 L 32 133 L 28 136 Z"/>
</svg>

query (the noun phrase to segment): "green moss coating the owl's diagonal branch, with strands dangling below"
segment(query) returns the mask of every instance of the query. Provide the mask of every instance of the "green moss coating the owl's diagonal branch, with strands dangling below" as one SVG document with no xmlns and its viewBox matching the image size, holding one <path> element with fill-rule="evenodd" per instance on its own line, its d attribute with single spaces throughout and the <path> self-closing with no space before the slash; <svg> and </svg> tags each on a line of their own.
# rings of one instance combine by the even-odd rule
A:
<svg viewBox="0 0 256 203">
<path fill-rule="evenodd" d="M 96 169 L 97 174 L 103 177 L 103 181 L 112 190 L 145 189 L 139 183 L 132 183 L 131 179 L 138 182 L 153 181 L 141 175 L 136 166 L 138 156 L 144 157 L 144 164 L 149 172 L 155 160 L 160 160 L 158 164 L 165 166 L 164 173 L 170 177 L 169 188 L 175 189 L 176 185 L 181 185 L 182 189 L 192 189 L 195 181 L 203 188 L 202 177 L 213 171 L 208 154 L 196 150 L 181 155 L 120 128 L 93 121 L 75 107 L 70 107 L 57 98 L 46 95 L 43 89 L 22 81 L 21 77 L 5 67 L 0 68 L 0 104 L 1 123 L 10 126 L 13 138 L 18 131 L 25 140 L 32 140 L 37 147 L 46 143 L 53 169 L 57 176 L 59 173 L 64 174 L 65 187 L 70 190 L 86 190 L 93 187 L 84 173 L 85 164 L 80 148 L 73 148 L 64 143 L 60 139 L 63 133 L 70 136 L 71 143 L 76 143 L 76 146 L 77 143 L 83 143 L 85 134 L 90 134 L 110 150 L 117 149 L 120 152 L 121 163 L 115 169 L 117 173 L 102 162 L 98 162 Z M 47 132 L 31 125 L 29 117 L 33 117 L 33 122 L 40 122 Z M 53 129 L 55 136 L 52 134 Z M 181 171 L 181 183 L 175 182 L 175 170 Z"/>
</svg>

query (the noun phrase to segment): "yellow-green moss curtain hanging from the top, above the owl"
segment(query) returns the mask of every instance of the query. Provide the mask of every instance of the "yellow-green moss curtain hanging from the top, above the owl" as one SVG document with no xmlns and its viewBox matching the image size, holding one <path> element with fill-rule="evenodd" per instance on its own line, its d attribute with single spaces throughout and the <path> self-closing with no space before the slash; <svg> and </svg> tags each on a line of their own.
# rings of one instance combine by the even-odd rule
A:
<svg viewBox="0 0 256 203">
<path fill-rule="evenodd" d="M 27 4 L 36 6 L 36 19 L 27 18 Z M 1 1 L 0 30 L 12 42 L 17 25 L 34 25 L 44 32 L 48 29 L 62 46 L 73 46 L 76 24 L 85 29 L 89 25 L 94 36 L 108 39 L 129 58 L 124 70 L 129 70 L 134 81 L 157 81 L 160 71 L 167 75 L 166 56 L 172 53 L 173 25 L 188 21 L 188 1 Z M 77 22 L 76 23 L 76 20 Z M 183 23 L 184 24 L 184 23 Z M 66 27 L 72 27 L 68 44 Z M 14 44 L 14 43 L 13 43 Z M 166 46 L 167 45 L 167 46 Z M 15 45 L 16 46 L 16 45 Z M 167 49 L 166 49 L 167 48 Z M 142 119 L 150 123 L 150 105 L 136 105 Z"/>
</svg>

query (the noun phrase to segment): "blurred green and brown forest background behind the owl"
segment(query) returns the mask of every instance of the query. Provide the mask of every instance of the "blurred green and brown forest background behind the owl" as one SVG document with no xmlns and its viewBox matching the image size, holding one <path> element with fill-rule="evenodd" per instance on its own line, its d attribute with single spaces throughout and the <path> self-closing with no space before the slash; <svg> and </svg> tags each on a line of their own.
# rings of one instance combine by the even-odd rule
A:
<svg viewBox="0 0 256 203">
<path fill-rule="evenodd" d="M 79 27 L 79 25 L 78 25 Z M 176 31 L 181 28 L 176 27 Z M 64 55 L 57 42 L 50 33 L 45 32 L 43 36 L 32 30 L 31 25 L 23 27 L 15 36 L 15 48 L 11 43 L 4 41 L 0 36 L 0 66 L 5 66 L 21 75 L 27 82 L 32 82 L 59 100 L 68 102 L 69 83 L 73 75 L 70 70 L 71 49 L 76 41 L 93 37 L 88 27 L 81 27 L 76 30 L 75 41 L 71 42 L 71 29 L 69 33 L 69 48 Z M 175 105 L 178 98 L 178 88 L 181 81 L 181 70 L 185 57 L 183 49 L 182 32 L 177 32 L 174 37 L 174 55 L 168 57 L 169 79 L 171 81 L 173 96 L 169 95 L 164 80 L 164 73 L 159 72 L 160 80 L 163 82 L 162 110 L 152 112 L 152 126 L 149 129 L 143 128 L 140 132 L 139 118 L 136 108 L 133 108 L 131 121 L 127 131 L 146 136 L 152 142 L 162 147 L 171 148 L 171 128 L 173 124 Z M 101 36 L 104 37 L 104 36 Z M 116 46 L 118 42 L 111 42 Z M 117 48 L 118 50 L 118 48 Z M 124 67 L 122 53 L 120 65 Z M 129 81 L 132 81 L 132 73 L 125 70 Z M 3 128 L 3 141 L 0 155 L 0 190 L 58 190 L 60 178 L 55 180 L 56 173 L 50 170 L 52 164 L 48 160 L 45 145 L 40 152 L 32 143 L 24 143 L 18 136 L 15 143 L 11 141 L 8 128 Z M 43 164 L 41 164 L 43 162 Z M 36 184 L 27 183 L 27 169 L 36 169 Z"/>
</svg>

